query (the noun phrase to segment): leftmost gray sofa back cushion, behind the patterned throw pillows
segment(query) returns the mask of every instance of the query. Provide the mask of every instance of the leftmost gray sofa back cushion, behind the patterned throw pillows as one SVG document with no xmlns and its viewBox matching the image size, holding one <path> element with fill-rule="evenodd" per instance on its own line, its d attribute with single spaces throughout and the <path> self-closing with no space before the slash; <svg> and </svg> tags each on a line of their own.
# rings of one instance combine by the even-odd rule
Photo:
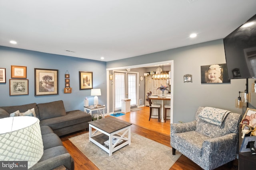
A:
<svg viewBox="0 0 256 170">
<path fill-rule="evenodd" d="M 9 114 L 13 113 L 17 110 L 19 110 L 20 112 L 26 112 L 28 111 L 28 109 L 33 109 L 35 110 L 36 113 L 36 117 L 38 119 L 40 119 L 39 113 L 38 113 L 38 107 L 36 106 L 36 103 L 32 103 L 32 104 L 24 104 L 24 105 L 20 105 L 20 106 L 4 106 L 1 107 L 2 109 L 4 109 L 5 111 L 7 111 Z"/>
</svg>

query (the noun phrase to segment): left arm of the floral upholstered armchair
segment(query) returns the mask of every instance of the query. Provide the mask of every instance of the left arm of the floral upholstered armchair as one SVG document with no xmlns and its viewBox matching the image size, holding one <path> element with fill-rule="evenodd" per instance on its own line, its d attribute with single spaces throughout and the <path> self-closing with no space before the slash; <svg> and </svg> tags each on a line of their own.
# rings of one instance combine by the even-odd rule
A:
<svg viewBox="0 0 256 170">
<path fill-rule="evenodd" d="M 194 131 L 195 129 L 196 129 L 195 120 L 188 123 L 171 123 L 171 135 L 175 133 Z"/>
</svg>

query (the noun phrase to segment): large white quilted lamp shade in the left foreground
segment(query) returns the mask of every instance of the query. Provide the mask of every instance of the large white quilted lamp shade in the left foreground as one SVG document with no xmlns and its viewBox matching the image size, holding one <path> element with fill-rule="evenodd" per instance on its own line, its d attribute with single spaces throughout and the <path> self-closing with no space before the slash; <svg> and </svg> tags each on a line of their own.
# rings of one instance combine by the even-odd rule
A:
<svg viewBox="0 0 256 170">
<path fill-rule="evenodd" d="M 30 116 L 0 119 L 0 160 L 28 161 L 34 166 L 44 153 L 39 119 Z"/>
</svg>

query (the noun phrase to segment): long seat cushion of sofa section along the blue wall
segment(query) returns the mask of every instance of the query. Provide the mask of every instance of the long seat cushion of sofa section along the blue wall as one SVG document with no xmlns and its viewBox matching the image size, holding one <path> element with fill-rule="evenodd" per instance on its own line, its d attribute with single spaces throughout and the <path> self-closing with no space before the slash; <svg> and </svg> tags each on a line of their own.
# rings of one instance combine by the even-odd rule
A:
<svg viewBox="0 0 256 170">
<path fill-rule="evenodd" d="M 84 123 L 91 121 L 91 115 L 84 113 L 81 110 L 68 111 L 65 116 L 53 117 L 51 119 L 45 119 L 40 121 L 40 125 L 48 125 L 52 130 L 60 129 L 63 127 L 68 127 L 71 125 L 76 125 L 79 123 Z M 84 127 L 86 128 L 86 127 Z"/>
</svg>

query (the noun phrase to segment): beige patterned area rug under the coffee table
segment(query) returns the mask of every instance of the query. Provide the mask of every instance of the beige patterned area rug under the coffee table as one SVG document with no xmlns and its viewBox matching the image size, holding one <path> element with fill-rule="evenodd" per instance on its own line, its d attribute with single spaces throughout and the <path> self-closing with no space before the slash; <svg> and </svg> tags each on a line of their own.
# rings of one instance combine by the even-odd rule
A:
<svg viewBox="0 0 256 170">
<path fill-rule="evenodd" d="M 131 145 L 109 156 L 94 143 L 89 142 L 89 133 L 69 140 L 100 170 L 169 170 L 181 153 L 146 137 L 131 133 Z"/>
</svg>

